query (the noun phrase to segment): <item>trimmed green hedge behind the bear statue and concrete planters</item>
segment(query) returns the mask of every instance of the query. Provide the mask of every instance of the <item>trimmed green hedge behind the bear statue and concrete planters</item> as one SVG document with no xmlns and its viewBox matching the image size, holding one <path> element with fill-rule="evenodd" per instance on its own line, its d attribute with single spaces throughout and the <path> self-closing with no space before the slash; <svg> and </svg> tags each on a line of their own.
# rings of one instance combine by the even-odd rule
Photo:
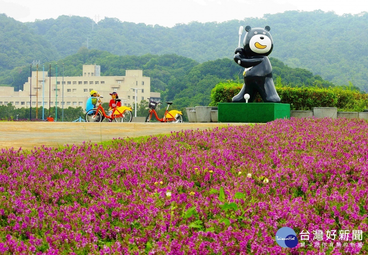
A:
<svg viewBox="0 0 368 255">
<path fill-rule="evenodd" d="M 211 91 L 210 106 L 231 102 L 243 84 L 227 81 L 219 83 Z M 313 107 L 336 107 L 338 111 L 361 112 L 368 108 L 368 94 L 351 91 L 348 88 L 331 87 L 276 87 L 284 104 L 290 104 L 293 111 L 311 111 Z M 263 102 L 259 94 L 255 102 Z"/>
</svg>

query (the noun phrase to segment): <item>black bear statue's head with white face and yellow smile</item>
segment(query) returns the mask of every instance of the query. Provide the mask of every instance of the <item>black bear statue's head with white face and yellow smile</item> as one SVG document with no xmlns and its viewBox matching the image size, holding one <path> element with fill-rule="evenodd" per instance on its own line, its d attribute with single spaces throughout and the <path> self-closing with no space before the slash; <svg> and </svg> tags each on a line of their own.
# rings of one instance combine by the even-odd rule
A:
<svg viewBox="0 0 368 255">
<path fill-rule="evenodd" d="M 244 37 L 244 49 L 249 57 L 268 56 L 272 52 L 273 41 L 269 29 L 268 26 L 265 28 L 245 27 L 247 34 Z"/>
</svg>

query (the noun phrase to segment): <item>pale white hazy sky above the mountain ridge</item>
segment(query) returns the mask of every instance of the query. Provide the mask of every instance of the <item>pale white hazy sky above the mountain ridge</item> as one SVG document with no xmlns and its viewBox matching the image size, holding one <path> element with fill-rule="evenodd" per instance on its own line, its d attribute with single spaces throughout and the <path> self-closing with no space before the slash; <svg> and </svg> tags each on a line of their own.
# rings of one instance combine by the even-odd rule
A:
<svg viewBox="0 0 368 255">
<path fill-rule="evenodd" d="M 335 11 L 336 14 L 357 14 L 368 11 L 368 1 L 358 0 L 0 0 L 0 13 L 22 22 L 78 15 L 95 19 L 118 18 L 121 21 L 159 24 L 173 27 L 190 21 L 223 22 L 262 17 L 266 13 L 287 10 Z M 98 18 L 96 18 L 96 21 Z"/>
</svg>

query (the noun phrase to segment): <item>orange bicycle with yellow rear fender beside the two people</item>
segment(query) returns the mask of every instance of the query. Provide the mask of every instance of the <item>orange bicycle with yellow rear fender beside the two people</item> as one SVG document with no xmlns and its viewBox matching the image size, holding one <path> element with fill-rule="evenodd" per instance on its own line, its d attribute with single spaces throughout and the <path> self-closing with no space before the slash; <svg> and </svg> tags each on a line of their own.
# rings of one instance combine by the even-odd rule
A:
<svg viewBox="0 0 368 255">
<path fill-rule="evenodd" d="M 103 98 L 100 96 L 99 98 Z M 121 99 L 117 98 L 116 102 L 120 102 Z M 102 108 L 101 103 L 97 108 L 93 108 L 86 113 L 86 122 L 101 122 L 104 118 L 115 120 L 115 122 L 131 122 L 132 108 L 127 106 L 114 107 L 111 115 L 106 115 L 105 110 Z"/>
</svg>

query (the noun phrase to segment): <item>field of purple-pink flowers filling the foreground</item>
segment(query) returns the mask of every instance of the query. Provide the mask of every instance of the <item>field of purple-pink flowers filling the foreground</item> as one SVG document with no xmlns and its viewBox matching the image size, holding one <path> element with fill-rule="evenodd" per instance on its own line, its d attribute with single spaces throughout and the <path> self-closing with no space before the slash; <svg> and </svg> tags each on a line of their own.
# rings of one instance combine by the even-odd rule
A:
<svg viewBox="0 0 368 255">
<path fill-rule="evenodd" d="M 2 150 L 0 254 L 368 254 L 367 162 L 362 119 Z"/>
</svg>

